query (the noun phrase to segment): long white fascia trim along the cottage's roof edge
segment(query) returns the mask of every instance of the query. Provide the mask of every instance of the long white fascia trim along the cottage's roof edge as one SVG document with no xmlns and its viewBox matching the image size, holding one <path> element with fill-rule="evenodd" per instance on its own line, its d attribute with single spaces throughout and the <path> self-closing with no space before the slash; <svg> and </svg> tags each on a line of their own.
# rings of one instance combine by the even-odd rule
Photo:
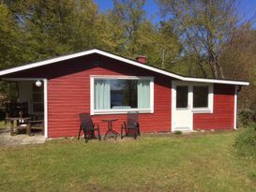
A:
<svg viewBox="0 0 256 192">
<path fill-rule="evenodd" d="M 154 67 L 154 66 L 148 66 L 148 65 L 143 65 L 139 62 L 130 60 L 128 58 L 110 53 L 110 52 L 104 52 L 98 49 L 93 49 L 93 50 L 89 50 L 89 51 L 85 51 L 85 52 L 77 52 L 77 53 L 73 53 L 73 54 L 68 54 L 68 55 L 64 55 L 64 56 L 59 56 L 53 59 L 48 59 L 48 60 L 44 60 L 44 61 L 40 61 L 40 62 L 36 62 L 36 63 L 32 63 L 32 64 L 27 64 L 24 66 L 16 66 L 16 67 L 12 67 L 12 68 L 8 68 L 6 70 L 1 70 L 0 71 L 0 76 L 4 76 L 4 75 L 8 75 L 11 73 L 15 73 L 15 72 L 19 72 L 19 71 L 23 71 L 26 69 L 30 69 L 30 68 L 35 68 L 38 66 L 48 66 L 57 62 L 61 62 L 61 61 L 66 61 L 69 59 L 74 59 L 77 57 L 81 57 L 81 56 L 85 56 L 85 55 L 89 55 L 89 54 L 94 54 L 94 53 L 98 53 L 100 55 L 109 57 L 109 58 L 113 58 L 115 60 L 118 61 L 122 61 L 125 62 L 129 65 L 132 66 L 139 66 L 142 67 L 144 69 L 150 70 L 150 71 L 154 71 L 157 72 L 159 74 L 162 75 L 166 75 L 168 77 L 180 80 L 180 81 L 194 81 L 194 82 L 212 82 L 212 83 L 223 83 L 223 84 L 235 84 L 235 85 L 248 85 L 248 81 L 233 81 L 233 80 L 218 80 L 218 79 L 203 79 L 203 78 L 193 78 L 193 77 L 186 77 L 186 76 L 182 76 L 182 75 L 178 75 L 163 69 L 160 69 L 158 67 Z"/>
</svg>

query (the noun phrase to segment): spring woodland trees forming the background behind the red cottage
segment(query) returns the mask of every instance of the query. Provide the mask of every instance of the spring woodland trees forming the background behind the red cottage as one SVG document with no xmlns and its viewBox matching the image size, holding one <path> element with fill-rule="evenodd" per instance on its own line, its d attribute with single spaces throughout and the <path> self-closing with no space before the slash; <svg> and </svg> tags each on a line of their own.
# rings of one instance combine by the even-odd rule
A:
<svg viewBox="0 0 256 192">
<path fill-rule="evenodd" d="M 0 69 L 98 48 L 181 75 L 249 81 L 239 109 L 256 116 L 255 15 L 238 0 L 156 0 L 158 21 L 145 0 L 0 0 Z M 256 13 L 256 10 L 255 10 Z M 3 101 L 15 85 L 1 81 Z"/>
</svg>

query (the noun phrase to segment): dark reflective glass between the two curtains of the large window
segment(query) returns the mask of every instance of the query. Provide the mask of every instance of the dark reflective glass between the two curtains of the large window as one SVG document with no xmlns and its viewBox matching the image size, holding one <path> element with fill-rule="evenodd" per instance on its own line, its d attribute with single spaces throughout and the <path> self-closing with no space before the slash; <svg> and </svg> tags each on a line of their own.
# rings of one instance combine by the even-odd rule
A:
<svg viewBox="0 0 256 192">
<path fill-rule="evenodd" d="M 137 80 L 111 80 L 111 108 L 138 108 Z"/>
</svg>

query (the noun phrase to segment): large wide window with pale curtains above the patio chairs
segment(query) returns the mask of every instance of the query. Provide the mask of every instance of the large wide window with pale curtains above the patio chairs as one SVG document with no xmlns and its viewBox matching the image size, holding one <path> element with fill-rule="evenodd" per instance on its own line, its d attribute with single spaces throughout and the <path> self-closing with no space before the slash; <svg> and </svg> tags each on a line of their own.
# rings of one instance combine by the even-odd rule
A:
<svg viewBox="0 0 256 192">
<path fill-rule="evenodd" d="M 152 78 L 92 78 L 93 113 L 153 112 Z M 93 104 L 93 105 L 92 105 Z"/>
</svg>

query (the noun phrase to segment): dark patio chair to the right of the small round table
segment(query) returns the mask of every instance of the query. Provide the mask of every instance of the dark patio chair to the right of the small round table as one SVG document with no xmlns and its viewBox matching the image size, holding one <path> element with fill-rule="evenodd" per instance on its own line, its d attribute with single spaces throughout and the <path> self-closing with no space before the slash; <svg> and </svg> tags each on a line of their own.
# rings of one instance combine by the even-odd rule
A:
<svg viewBox="0 0 256 192">
<path fill-rule="evenodd" d="M 133 136 L 135 140 L 141 136 L 138 112 L 128 112 L 127 121 L 121 126 L 121 139 L 128 136 Z"/>
</svg>

